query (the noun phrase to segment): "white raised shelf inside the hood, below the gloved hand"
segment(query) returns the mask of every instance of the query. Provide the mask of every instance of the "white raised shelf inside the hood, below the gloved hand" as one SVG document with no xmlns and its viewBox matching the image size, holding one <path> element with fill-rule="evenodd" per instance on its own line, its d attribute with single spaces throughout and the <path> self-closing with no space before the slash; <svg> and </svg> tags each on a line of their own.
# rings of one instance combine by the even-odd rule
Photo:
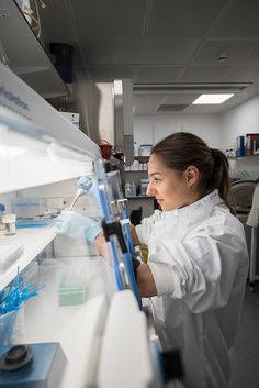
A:
<svg viewBox="0 0 259 388">
<path fill-rule="evenodd" d="M 0 274 L 0 290 L 7 287 L 18 274 L 18 266 L 22 271 L 56 236 L 54 226 L 19 229 L 15 235 L 5 236 L 0 232 L 0 245 L 23 244 L 23 255 L 7 270 Z"/>
</svg>

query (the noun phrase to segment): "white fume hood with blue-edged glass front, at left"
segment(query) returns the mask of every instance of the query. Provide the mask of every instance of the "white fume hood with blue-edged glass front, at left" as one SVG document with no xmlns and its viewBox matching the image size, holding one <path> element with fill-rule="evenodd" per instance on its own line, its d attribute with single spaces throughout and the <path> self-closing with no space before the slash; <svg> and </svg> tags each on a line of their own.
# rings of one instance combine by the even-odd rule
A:
<svg viewBox="0 0 259 388">
<path fill-rule="evenodd" d="M 117 171 L 102 168 L 104 162 L 97 144 L 2 64 L 0 78 L 1 201 L 8 203 L 18 195 L 24 198 L 38 193 L 54 201 L 56 193 L 63 197 L 66 190 L 67 197 L 74 196 L 78 177 L 98 178 L 101 204 L 106 204 L 104 221 L 115 222 L 124 233 L 121 223 L 116 223 L 124 206 Z M 61 202 L 61 207 L 68 204 Z M 11 202 L 8 208 L 11 211 Z M 88 204 L 85 208 L 86 211 L 100 209 L 98 203 L 95 208 Z M 98 213 L 92 215 L 100 218 Z M 40 296 L 25 303 L 20 341 L 34 348 L 36 344 L 49 343 L 61 346 L 63 367 L 56 370 L 55 387 L 130 388 L 132 381 L 139 388 L 165 386 L 159 341 L 155 331 L 149 332 L 135 290 L 128 287 L 131 274 L 119 240 L 112 232 L 109 244 L 115 259 L 111 267 L 82 241 L 64 239 L 58 243 L 52 224 L 18 229 L 9 237 L 0 232 L 0 245 L 7 241 L 23 245 L 19 259 L 0 273 L 1 289 L 15 277 L 18 266 L 23 274 L 37 259 L 38 281 L 46 286 Z M 80 281 L 83 279 L 81 293 L 66 297 L 64 306 L 64 281 L 67 285 L 75 270 Z M 86 297 L 82 303 L 72 303 L 82 296 Z M 21 342 L 18 340 L 18 343 Z M 7 350 L 2 345 L 1 352 Z M 0 379 L 1 384 L 4 386 Z"/>
</svg>

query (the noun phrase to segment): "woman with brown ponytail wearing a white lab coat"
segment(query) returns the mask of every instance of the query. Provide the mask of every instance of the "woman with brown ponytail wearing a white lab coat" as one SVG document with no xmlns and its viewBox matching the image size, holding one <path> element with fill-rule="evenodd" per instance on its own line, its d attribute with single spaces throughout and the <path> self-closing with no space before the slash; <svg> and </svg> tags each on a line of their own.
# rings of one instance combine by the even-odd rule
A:
<svg viewBox="0 0 259 388">
<path fill-rule="evenodd" d="M 187 388 L 226 388 L 248 269 L 241 223 L 228 204 L 228 163 L 191 133 L 159 142 L 148 163 L 147 193 L 161 211 L 132 226 L 148 246 L 136 269 L 142 297 L 153 297 L 164 348 L 179 348 Z M 91 228 L 94 224 L 91 223 Z M 104 256 L 100 229 L 91 242 Z"/>
</svg>

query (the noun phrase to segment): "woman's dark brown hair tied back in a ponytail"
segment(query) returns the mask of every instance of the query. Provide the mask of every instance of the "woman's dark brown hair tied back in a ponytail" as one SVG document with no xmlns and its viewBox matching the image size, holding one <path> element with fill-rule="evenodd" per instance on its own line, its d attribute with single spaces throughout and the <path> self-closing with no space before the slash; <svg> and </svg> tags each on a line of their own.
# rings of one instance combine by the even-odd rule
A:
<svg viewBox="0 0 259 388">
<path fill-rule="evenodd" d="M 167 167 L 184 171 L 195 166 L 200 171 L 198 190 L 201 197 L 218 189 L 219 197 L 234 213 L 229 203 L 230 180 L 226 156 L 192 133 L 178 132 L 157 143 L 151 154 L 156 154 Z"/>
</svg>

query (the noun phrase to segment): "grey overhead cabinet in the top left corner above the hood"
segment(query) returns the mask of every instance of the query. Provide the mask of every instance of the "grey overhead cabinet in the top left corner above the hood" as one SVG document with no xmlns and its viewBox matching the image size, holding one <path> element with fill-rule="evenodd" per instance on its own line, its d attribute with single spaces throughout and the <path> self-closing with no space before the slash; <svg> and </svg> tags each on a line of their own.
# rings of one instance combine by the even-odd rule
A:
<svg viewBox="0 0 259 388">
<path fill-rule="evenodd" d="M 1 0 L 0 19 L 1 45 L 12 71 L 44 98 L 68 95 L 66 85 L 14 0 Z"/>
</svg>

